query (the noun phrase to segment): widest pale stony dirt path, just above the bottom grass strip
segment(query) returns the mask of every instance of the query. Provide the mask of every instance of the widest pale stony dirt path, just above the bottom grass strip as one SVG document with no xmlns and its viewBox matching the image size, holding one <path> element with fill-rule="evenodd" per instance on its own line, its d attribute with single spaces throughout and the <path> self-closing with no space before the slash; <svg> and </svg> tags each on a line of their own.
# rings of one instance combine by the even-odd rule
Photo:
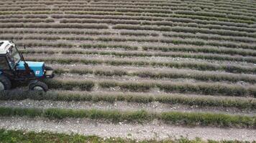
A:
<svg viewBox="0 0 256 143">
<path fill-rule="evenodd" d="M 194 139 L 242 140 L 255 141 L 256 130 L 252 129 L 219 129 L 214 127 L 175 127 L 160 122 L 149 124 L 111 124 L 88 119 L 32 119 L 27 117 L 0 117 L 0 128 L 23 129 L 27 131 L 50 131 L 61 133 L 78 133 L 98 135 L 100 137 L 129 137 L 132 139 L 166 139 L 170 137 L 188 137 Z"/>
</svg>

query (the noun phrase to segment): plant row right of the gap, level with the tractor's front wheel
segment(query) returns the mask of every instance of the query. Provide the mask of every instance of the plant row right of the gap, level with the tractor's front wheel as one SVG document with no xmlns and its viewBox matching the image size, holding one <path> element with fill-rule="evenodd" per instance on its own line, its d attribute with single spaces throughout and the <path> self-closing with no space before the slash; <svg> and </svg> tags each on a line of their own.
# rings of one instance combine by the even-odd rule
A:
<svg viewBox="0 0 256 143">
<path fill-rule="evenodd" d="M 155 83 L 155 82 L 99 82 L 99 87 L 109 89 L 119 87 L 122 91 L 149 92 L 159 88 L 163 92 L 178 92 L 189 94 L 222 95 L 236 97 L 256 97 L 256 87 L 242 87 L 233 84 L 218 83 Z"/>
</svg>

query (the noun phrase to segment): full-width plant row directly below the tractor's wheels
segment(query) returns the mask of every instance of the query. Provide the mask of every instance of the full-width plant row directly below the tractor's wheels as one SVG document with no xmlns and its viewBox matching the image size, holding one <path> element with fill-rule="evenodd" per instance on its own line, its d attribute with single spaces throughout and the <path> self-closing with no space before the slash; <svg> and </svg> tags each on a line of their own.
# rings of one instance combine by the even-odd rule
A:
<svg viewBox="0 0 256 143">
<path fill-rule="evenodd" d="M 256 108 L 256 99 L 243 97 L 213 97 L 186 94 L 145 94 L 145 93 L 93 93 L 93 92 L 27 92 L 23 90 L 2 91 L 0 100 L 52 100 L 52 101 L 87 101 L 87 102 L 137 102 L 163 104 L 184 104 L 198 107 L 234 107 L 237 109 Z"/>
</svg>

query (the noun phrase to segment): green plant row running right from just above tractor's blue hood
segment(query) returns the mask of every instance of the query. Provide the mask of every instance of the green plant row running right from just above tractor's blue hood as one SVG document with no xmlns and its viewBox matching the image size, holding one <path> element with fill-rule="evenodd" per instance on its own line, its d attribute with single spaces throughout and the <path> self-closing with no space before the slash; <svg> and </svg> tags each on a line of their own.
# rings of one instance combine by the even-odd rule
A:
<svg viewBox="0 0 256 143">
<path fill-rule="evenodd" d="M 196 69 L 201 71 L 226 71 L 230 73 L 247 73 L 256 74 L 256 68 L 250 66 L 235 66 L 226 64 L 211 64 L 211 63 L 199 63 L 199 62 L 188 62 L 188 61 L 139 61 L 139 60 L 100 60 L 100 59 L 74 59 L 74 58 L 27 58 L 33 61 L 46 61 L 50 63 L 59 64 L 71 64 L 71 63 L 82 63 L 82 64 L 109 64 L 113 66 L 130 65 L 130 66 L 164 66 L 164 67 L 174 67 L 177 69 Z"/>
</svg>

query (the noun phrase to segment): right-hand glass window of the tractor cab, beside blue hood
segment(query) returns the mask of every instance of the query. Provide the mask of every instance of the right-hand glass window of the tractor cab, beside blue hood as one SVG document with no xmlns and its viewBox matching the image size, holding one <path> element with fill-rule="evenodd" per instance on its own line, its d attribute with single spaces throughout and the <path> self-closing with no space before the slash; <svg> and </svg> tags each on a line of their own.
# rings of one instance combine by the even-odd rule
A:
<svg viewBox="0 0 256 143">
<path fill-rule="evenodd" d="M 11 66 L 12 69 L 16 66 L 16 64 L 20 61 L 21 57 L 19 56 L 19 51 L 17 50 L 16 47 L 12 46 L 9 49 L 8 54 L 6 55 L 7 59 L 9 61 L 9 65 Z"/>
</svg>

